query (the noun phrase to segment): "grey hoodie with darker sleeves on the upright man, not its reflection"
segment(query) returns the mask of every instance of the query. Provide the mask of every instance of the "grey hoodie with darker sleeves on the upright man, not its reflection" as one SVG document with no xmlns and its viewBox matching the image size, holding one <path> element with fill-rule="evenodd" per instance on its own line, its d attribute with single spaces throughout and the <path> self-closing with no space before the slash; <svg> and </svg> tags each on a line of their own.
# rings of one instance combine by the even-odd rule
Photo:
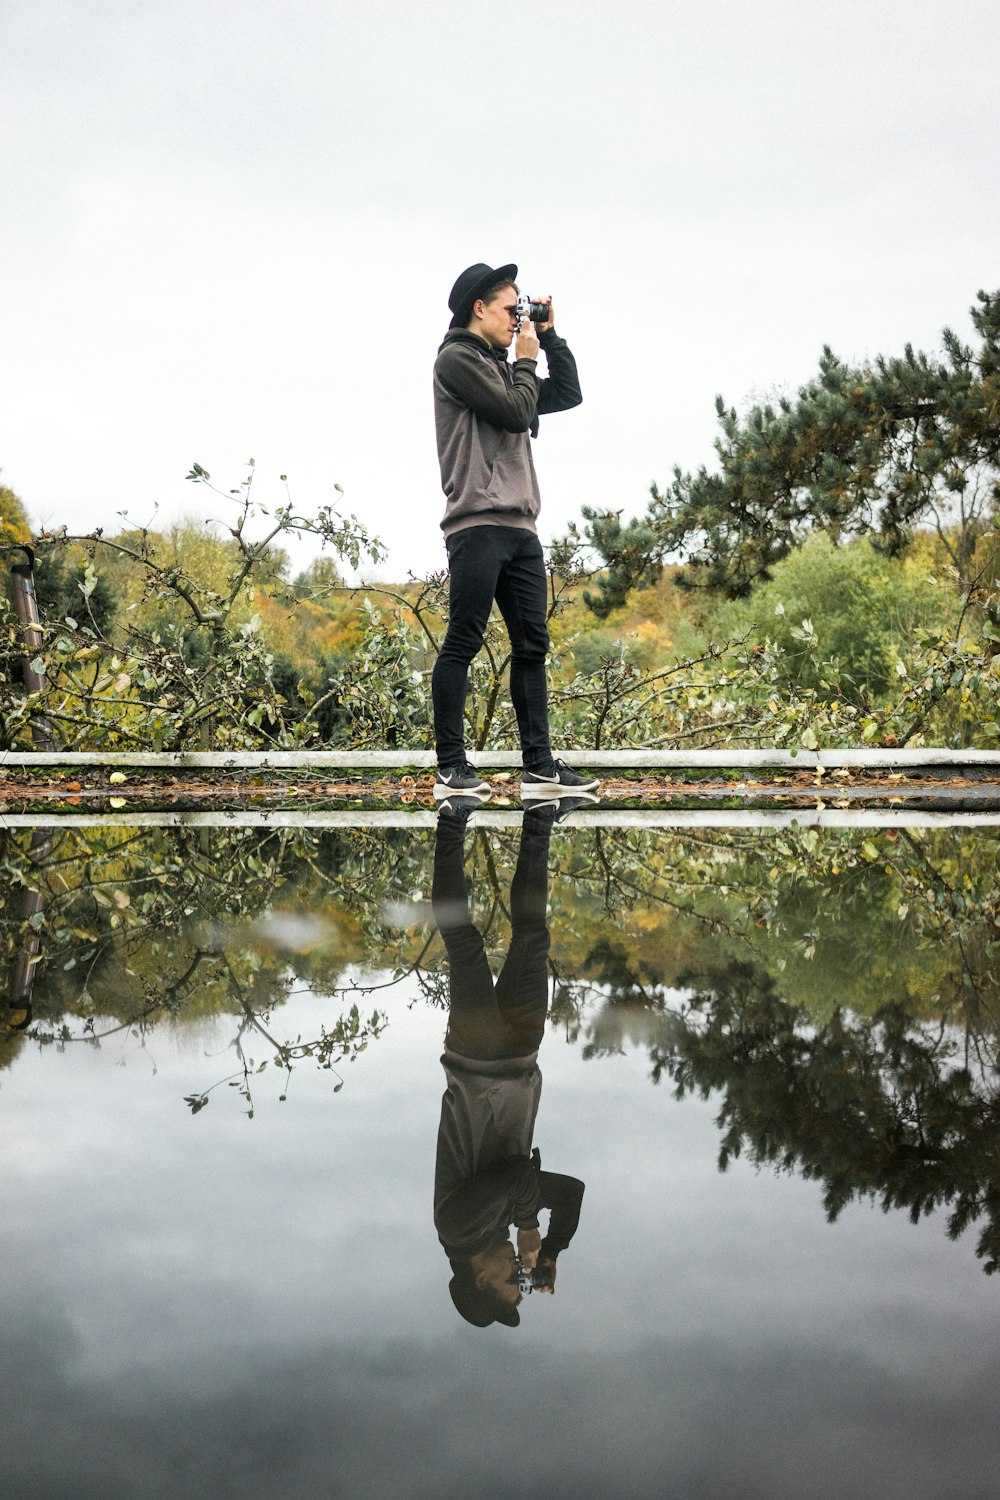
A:
<svg viewBox="0 0 1000 1500">
<path fill-rule="evenodd" d="M 534 360 L 507 362 L 468 328 L 445 334 L 435 362 L 435 426 L 445 537 L 466 526 L 535 530 L 538 480 L 529 435 L 538 417 L 583 400 L 576 360 L 555 328 L 540 334 L 549 378 Z"/>
</svg>

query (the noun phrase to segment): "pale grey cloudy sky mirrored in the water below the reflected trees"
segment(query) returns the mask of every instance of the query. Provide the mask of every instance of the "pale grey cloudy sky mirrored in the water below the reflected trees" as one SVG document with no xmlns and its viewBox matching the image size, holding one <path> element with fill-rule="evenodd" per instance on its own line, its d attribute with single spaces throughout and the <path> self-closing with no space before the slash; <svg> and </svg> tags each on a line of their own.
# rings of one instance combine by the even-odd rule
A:
<svg viewBox="0 0 1000 1500">
<path fill-rule="evenodd" d="M 712 1102 L 642 1054 L 549 1030 L 535 1143 L 586 1182 L 580 1228 L 517 1330 L 463 1324 L 432 1220 L 445 1017 L 414 994 L 379 993 L 336 1098 L 304 1062 L 282 1104 L 268 1068 L 253 1120 L 225 1086 L 183 1104 L 235 1065 L 225 1017 L 196 1050 L 24 1048 L 0 1089 L 7 1492 L 993 1492 L 1000 1286 L 973 1234 L 858 1204 L 831 1227 L 814 1184 L 720 1174 Z M 282 1035 L 336 1014 L 297 999 Z"/>
</svg>

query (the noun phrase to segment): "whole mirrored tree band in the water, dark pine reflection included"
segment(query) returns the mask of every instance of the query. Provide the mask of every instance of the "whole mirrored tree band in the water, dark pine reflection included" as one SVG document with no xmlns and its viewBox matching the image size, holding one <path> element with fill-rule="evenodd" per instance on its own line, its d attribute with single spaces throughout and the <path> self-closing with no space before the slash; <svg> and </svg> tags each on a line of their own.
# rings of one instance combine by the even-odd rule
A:
<svg viewBox="0 0 1000 1500">
<path fill-rule="evenodd" d="M 105 1029 L 231 1016 L 237 1088 L 261 1058 L 336 1068 L 376 1036 L 385 992 L 447 1005 L 430 924 L 432 837 L 406 831 L 64 828 L 0 846 L 9 981 L 33 969 L 33 1022 L 69 1046 Z M 517 831 L 469 842 L 487 956 L 510 942 Z M 642 1047 L 655 1080 L 721 1098 L 721 1161 L 823 1184 L 949 1232 L 979 1221 L 1000 1258 L 1000 873 L 990 831 L 850 836 L 688 830 L 556 832 L 550 1020 L 588 1056 Z M 286 1035 L 301 988 L 333 998 Z M 288 1011 L 291 1020 L 292 1011 Z M 192 1108 L 201 1107 L 192 1095 Z"/>
</svg>

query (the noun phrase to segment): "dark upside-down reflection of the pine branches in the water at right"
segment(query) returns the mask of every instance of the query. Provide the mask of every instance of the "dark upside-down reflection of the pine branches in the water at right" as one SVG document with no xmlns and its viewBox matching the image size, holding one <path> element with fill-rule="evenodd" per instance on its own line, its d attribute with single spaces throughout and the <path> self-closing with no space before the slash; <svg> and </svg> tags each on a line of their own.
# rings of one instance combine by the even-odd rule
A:
<svg viewBox="0 0 1000 1500">
<path fill-rule="evenodd" d="M 888 1005 L 814 1026 L 748 963 L 699 976 L 685 1024 L 652 1048 L 676 1094 L 723 1094 L 720 1167 L 744 1152 L 823 1184 L 834 1221 L 852 1198 L 913 1222 L 948 1204 L 958 1238 L 985 1218 L 976 1254 L 1000 1269 L 1000 1088 L 973 1072 L 964 1038 Z"/>
</svg>

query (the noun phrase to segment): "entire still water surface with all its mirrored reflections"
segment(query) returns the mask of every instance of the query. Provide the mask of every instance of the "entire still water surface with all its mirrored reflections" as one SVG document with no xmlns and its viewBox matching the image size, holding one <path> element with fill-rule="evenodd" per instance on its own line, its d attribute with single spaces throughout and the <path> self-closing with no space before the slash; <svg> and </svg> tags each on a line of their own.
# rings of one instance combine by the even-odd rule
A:
<svg viewBox="0 0 1000 1500">
<path fill-rule="evenodd" d="M 4 1494 L 994 1492 L 996 836 L 535 818 L 0 836 Z"/>
</svg>

